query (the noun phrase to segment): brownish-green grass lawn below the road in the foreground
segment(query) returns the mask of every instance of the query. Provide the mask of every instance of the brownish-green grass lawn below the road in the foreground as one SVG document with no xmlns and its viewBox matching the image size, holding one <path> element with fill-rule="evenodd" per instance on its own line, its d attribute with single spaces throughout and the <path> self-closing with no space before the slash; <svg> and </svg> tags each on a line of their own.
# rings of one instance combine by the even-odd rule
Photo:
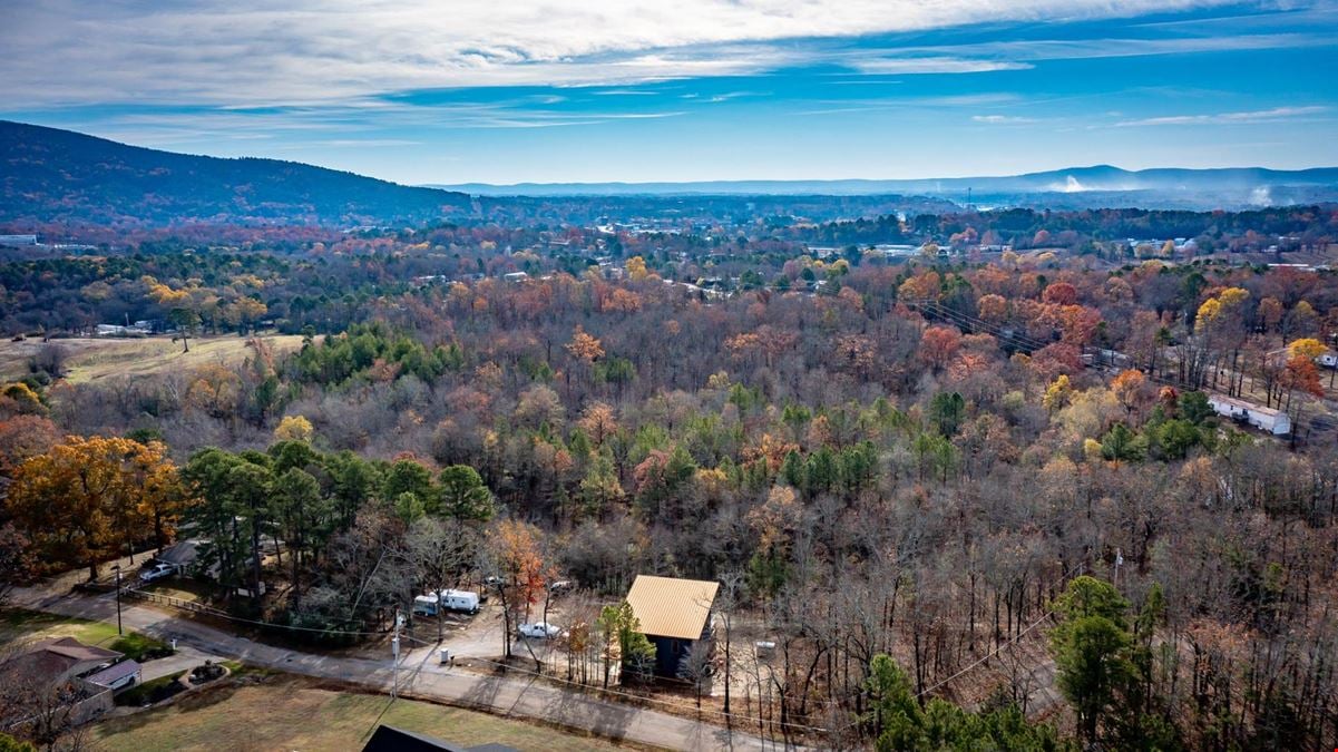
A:
<svg viewBox="0 0 1338 752">
<path fill-rule="evenodd" d="M 590 737 L 431 702 L 337 692 L 301 677 L 270 684 L 225 685 L 181 697 L 166 708 L 94 727 L 94 747 L 107 751 L 174 749 L 321 751 L 361 749 L 377 724 L 474 747 L 578 751 L 618 747 Z"/>
</svg>

